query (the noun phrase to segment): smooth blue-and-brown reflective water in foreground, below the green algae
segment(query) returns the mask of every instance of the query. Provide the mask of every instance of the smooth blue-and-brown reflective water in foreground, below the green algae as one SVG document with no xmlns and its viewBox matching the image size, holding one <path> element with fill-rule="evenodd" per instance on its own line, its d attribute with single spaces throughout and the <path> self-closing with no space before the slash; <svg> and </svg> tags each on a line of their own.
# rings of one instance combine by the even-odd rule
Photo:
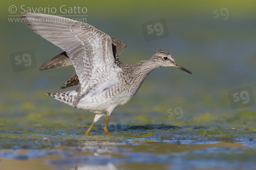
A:
<svg viewBox="0 0 256 170">
<path fill-rule="evenodd" d="M 205 165 L 221 163 L 210 164 L 213 168 L 234 168 L 253 166 L 256 155 L 255 142 L 246 143 L 245 146 L 245 143 L 239 142 L 126 139 L 126 142 L 118 145 L 112 142 L 105 142 L 105 146 L 89 145 L 92 142 L 88 140 L 79 147 L 57 146 L 50 150 L 1 150 L 0 165 L 3 169 L 37 167 L 38 170 L 191 168 L 182 163 L 186 161 L 190 165 L 194 164 L 194 168 L 203 168 L 201 162 Z M 231 164 L 233 161 L 236 161 L 235 166 Z"/>
</svg>

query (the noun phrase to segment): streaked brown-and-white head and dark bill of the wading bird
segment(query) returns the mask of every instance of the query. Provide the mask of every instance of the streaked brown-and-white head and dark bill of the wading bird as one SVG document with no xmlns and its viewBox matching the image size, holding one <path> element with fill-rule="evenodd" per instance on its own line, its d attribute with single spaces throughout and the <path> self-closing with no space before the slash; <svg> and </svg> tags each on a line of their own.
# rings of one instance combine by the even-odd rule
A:
<svg viewBox="0 0 256 170">
<path fill-rule="evenodd" d="M 179 64 L 177 64 L 175 62 L 175 59 L 174 59 L 172 53 L 170 53 L 167 50 L 163 50 L 163 49 L 157 50 L 154 53 L 151 60 L 154 60 L 156 63 L 158 63 L 160 67 L 174 66 L 174 67 L 182 69 L 185 72 L 188 72 L 188 73 L 192 74 L 190 71 L 188 71 L 187 69 L 185 69 L 182 66 L 180 66 Z"/>
</svg>

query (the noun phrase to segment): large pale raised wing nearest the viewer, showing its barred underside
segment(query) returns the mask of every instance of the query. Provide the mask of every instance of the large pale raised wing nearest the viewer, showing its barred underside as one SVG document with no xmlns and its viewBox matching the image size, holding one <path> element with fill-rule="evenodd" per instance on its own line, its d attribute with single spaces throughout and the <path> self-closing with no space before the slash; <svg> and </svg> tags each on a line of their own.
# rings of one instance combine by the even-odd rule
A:
<svg viewBox="0 0 256 170">
<path fill-rule="evenodd" d="M 22 14 L 23 22 L 67 52 L 80 82 L 73 106 L 99 82 L 122 69 L 116 64 L 111 37 L 84 22 L 46 14 Z"/>
</svg>

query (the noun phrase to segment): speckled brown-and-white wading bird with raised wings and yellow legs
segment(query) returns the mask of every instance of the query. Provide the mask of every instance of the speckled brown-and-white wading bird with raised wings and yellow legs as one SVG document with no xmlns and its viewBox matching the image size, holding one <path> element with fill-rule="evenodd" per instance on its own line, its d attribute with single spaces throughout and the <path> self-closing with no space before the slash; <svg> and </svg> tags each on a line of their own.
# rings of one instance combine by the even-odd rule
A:
<svg viewBox="0 0 256 170">
<path fill-rule="evenodd" d="M 96 113 L 87 136 L 102 116 L 106 116 L 104 131 L 111 135 L 107 128 L 111 112 L 130 101 L 153 70 L 174 66 L 192 74 L 177 64 L 167 50 L 157 50 L 153 57 L 137 64 L 124 64 L 119 55 L 126 44 L 89 24 L 46 14 L 22 15 L 29 28 L 64 50 L 39 70 L 71 64 L 75 67 L 75 74 L 60 87 L 77 86 L 74 91 L 47 94 L 77 109 Z"/>
</svg>

